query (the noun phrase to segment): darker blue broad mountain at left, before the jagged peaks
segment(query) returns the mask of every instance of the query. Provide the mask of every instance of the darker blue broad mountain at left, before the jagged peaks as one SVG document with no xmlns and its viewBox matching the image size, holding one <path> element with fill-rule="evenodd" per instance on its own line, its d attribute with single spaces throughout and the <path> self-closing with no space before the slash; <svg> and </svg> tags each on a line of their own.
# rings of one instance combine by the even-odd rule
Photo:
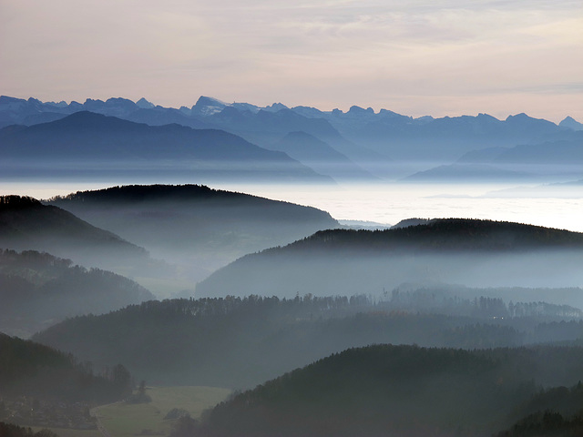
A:
<svg viewBox="0 0 583 437">
<path fill-rule="evenodd" d="M 281 152 L 214 129 L 152 127 L 82 111 L 49 123 L 0 130 L 12 171 L 178 169 L 191 175 L 330 182 Z M 31 171 L 32 172 L 32 171 Z"/>
</svg>

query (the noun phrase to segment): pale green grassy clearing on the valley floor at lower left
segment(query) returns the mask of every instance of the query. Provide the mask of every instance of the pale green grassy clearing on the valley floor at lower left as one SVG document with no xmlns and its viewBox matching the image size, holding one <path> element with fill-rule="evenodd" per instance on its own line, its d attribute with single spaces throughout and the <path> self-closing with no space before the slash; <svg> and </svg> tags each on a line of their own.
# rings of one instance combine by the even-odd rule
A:
<svg viewBox="0 0 583 437">
<path fill-rule="evenodd" d="M 144 431 L 150 435 L 168 435 L 175 422 L 164 420 L 170 410 L 181 408 L 198 419 L 201 412 L 229 396 L 230 390 L 214 387 L 148 387 L 147 393 L 152 398 L 149 403 L 129 405 L 118 402 L 98 407 L 97 416 L 107 432 L 115 437 L 134 437 Z"/>
</svg>

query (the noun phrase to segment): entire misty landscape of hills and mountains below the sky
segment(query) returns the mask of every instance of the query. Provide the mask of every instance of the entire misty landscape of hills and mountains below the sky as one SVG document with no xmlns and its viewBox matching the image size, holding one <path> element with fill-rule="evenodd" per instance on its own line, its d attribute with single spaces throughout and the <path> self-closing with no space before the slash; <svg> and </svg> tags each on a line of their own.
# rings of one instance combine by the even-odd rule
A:
<svg viewBox="0 0 583 437">
<path fill-rule="evenodd" d="M 581 128 L 0 97 L 0 435 L 581 435 Z"/>
</svg>

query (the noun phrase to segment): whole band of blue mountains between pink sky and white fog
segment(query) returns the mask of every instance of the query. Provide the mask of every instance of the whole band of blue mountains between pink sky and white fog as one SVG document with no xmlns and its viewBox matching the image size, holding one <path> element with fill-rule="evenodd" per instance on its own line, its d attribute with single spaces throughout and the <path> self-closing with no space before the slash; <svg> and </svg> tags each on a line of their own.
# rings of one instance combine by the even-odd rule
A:
<svg viewBox="0 0 583 437">
<path fill-rule="evenodd" d="M 582 129 L 571 117 L 558 125 L 526 114 L 504 120 L 487 114 L 408 117 L 371 107 L 353 106 L 346 112 L 281 103 L 258 107 L 204 96 L 180 108 L 155 106 L 144 98 L 87 98 L 82 104 L 66 104 L 0 97 L 0 145 L 5 145 L 0 157 L 25 158 L 25 165 L 31 157 L 53 163 L 89 156 L 121 159 L 126 168 L 120 174 L 128 168 L 142 171 L 136 159 L 148 157 L 151 170 L 153 160 L 169 158 L 174 174 L 180 170 L 191 175 L 196 169 L 223 180 L 238 175 L 282 182 L 370 182 L 379 177 L 557 182 L 580 178 Z M 36 154 L 29 153 L 31 147 Z M 240 166 L 250 158 L 261 164 Z M 207 165 L 199 166 L 197 159 Z M 235 161 L 239 166 L 232 166 Z M 427 170 L 427 163 L 436 167 Z M 103 169 L 96 161 L 85 164 Z M 158 161 L 157 170 L 166 164 Z M 271 171 L 273 165 L 278 171 Z M 15 174 L 12 168 L 5 172 Z M 61 174 L 70 175 L 70 168 Z"/>
</svg>

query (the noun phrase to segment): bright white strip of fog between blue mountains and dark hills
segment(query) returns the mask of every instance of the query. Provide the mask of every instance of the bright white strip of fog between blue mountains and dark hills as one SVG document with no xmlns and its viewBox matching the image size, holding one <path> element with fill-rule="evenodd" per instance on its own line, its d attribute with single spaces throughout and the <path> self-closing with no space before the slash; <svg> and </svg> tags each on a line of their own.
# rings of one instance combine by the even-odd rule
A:
<svg viewBox="0 0 583 437">
<path fill-rule="evenodd" d="M 379 182 L 338 185 L 260 184 L 179 179 L 68 180 L 52 182 L 5 181 L 2 195 L 38 199 L 118 185 L 184 184 L 237 191 L 273 200 L 320 208 L 337 220 L 395 225 L 403 219 L 494 219 L 583 232 L 583 197 L 578 187 L 544 190 L 537 184 L 434 184 Z M 549 189 L 549 186 L 547 186 Z"/>
</svg>

